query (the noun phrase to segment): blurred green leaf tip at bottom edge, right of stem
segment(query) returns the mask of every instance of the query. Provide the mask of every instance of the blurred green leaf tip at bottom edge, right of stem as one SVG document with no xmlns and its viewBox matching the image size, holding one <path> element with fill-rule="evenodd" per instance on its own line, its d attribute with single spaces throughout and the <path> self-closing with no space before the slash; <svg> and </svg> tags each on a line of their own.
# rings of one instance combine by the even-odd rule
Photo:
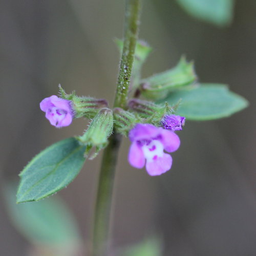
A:
<svg viewBox="0 0 256 256">
<path fill-rule="evenodd" d="M 121 256 L 160 256 L 162 246 L 157 238 L 148 238 L 140 244 L 129 246 Z"/>
</svg>

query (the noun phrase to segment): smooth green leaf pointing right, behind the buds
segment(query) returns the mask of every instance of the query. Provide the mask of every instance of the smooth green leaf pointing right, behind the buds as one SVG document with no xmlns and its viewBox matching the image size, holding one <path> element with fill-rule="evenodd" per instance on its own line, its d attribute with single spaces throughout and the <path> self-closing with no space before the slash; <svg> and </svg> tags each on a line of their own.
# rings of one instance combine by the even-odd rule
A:
<svg viewBox="0 0 256 256">
<path fill-rule="evenodd" d="M 190 120 L 228 117 L 248 106 L 245 98 L 230 92 L 224 84 L 215 83 L 204 83 L 195 89 L 174 92 L 163 101 L 172 105 L 179 99 L 182 100 L 176 114 Z"/>
</svg>

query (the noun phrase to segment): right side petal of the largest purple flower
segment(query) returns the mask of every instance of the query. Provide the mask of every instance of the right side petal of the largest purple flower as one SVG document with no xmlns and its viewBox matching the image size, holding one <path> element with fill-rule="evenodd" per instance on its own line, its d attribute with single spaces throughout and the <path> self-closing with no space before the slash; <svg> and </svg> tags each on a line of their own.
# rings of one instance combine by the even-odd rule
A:
<svg viewBox="0 0 256 256">
<path fill-rule="evenodd" d="M 180 138 L 177 134 L 172 131 L 162 129 L 161 137 L 160 141 L 163 143 L 165 151 L 174 152 L 178 150 L 180 146 Z"/>
</svg>

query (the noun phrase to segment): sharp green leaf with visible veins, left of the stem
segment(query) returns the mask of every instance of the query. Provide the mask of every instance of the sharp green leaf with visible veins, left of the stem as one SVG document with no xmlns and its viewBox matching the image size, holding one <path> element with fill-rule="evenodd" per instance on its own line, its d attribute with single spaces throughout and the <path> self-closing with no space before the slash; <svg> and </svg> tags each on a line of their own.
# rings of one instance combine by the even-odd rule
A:
<svg viewBox="0 0 256 256">
<path fill-rule="evenodd" d="M 66 187 L 82 168 L 85 150 L 75 138 L 68 138 L 35 156 L 19 175 L 17 203 L 38 201 Z"/>
</svg>

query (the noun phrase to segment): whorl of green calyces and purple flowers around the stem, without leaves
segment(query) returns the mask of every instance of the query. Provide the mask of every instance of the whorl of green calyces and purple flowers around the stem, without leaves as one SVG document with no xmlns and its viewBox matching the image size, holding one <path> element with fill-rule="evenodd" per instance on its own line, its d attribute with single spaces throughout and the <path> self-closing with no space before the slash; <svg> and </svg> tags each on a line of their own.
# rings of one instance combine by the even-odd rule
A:
<svg viewBox="0 0 256 256">
<path fill-rule="evenodd" d="M 121 49 L 122 41 L 117 41 L 117 44 Z M 181 59 L 174 69 L 141 80 L 140 71 L 151 50 L 145 42 L 137 42 L 130 85 L 130 93 L 134 97 L 142 95 L 147 99 L 161 99 L 174 88 L 191 84 L 196 80 L 193 64 L 187 63 L 185 59 Z M 173 151 L 173 149 L 170 149 L 171 144 L 164 140 L 170 137 L 176 138 L 173 133 L 182 130 L 185 123 L 184 117 L 174 115 L 180 102 L 171 107 L 167 102 L 157 104 L 153 101 L 132 98 L 124 106 L 124 109 L 115 108 L 112 111 L 108 108 L 108 101 L 105 99 L 79 97 L 75 92 L 67 94 L 60 85 L 59 96 L 53 95 L 42 100 L 40 108 L 46 112 L 46 118 L 56 127 L 68 126 L 73 118 L 85 117 L 91 119 L 84 134 L 76 137 L 81 145 L 86 146 L 84 155 L 88 156 L 90 154 L 90 159 L 94 158 L 108 144 L 108 138 L 114 129 L 115 132 L 129 136 L 132 141 L 136 141 L 131 152 L 143 152 L 141 166 L 144 165 L 145 159 L 147 159 L 148 170 L 151 170 L 149 165 L 153 164 L 155 166 L 162 163 L 162 161 L 166 161 L 166 166 L 163 169 L 159 167 L 157 173 L 154 173 L 155 167 L 152 165 L 151 175 L 159 175 L 170 168 L 171 158 L 166 154 L 163 155 L 162 151 L 163 148 L 168 152 Z M 146 132 L 149 134 L 144 140 L 143 134 Z M 156 140 L 158 135 L 161 135 L 163 141 L 160 137 L 158 141 Z M 177 148 L 179 146 L 177 138 L 176 142 Z M 138 145 L 140 147 L 136 149 Z M 94 154 L 91 153 L 93 148 L 95 149 Z M 131 155 L 134 154 L 131 153 Z M 133 166 L 137 166 L 134 161 L 131 160 L 130 162 L 133 163 Z"/>
</svg>

